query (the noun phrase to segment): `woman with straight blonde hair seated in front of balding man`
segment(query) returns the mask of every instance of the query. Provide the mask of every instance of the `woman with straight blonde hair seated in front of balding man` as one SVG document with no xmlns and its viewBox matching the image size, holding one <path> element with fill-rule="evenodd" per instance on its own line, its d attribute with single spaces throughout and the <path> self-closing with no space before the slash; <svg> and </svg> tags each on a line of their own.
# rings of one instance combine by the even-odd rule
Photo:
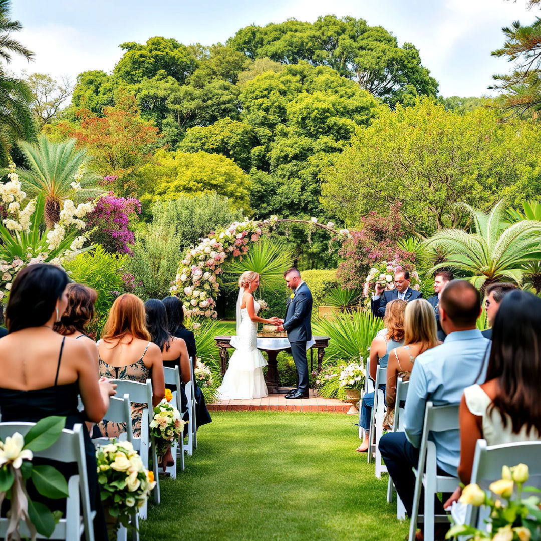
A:
<svg viewBox="0 0 541 541">
<path fill-rule="evenodd" d="M 438 344 L 441 342 L 436 335 L 436 318 L 432 306 L 425 299 L 411 301 L 404 312 L 404 345 L 389 353 L 385 391 L 389 419 L 387 425 L 392 426 L 391 413 L 394 410 L 398 378 L 409 380 L 415 358 Z"/>
</svg>

